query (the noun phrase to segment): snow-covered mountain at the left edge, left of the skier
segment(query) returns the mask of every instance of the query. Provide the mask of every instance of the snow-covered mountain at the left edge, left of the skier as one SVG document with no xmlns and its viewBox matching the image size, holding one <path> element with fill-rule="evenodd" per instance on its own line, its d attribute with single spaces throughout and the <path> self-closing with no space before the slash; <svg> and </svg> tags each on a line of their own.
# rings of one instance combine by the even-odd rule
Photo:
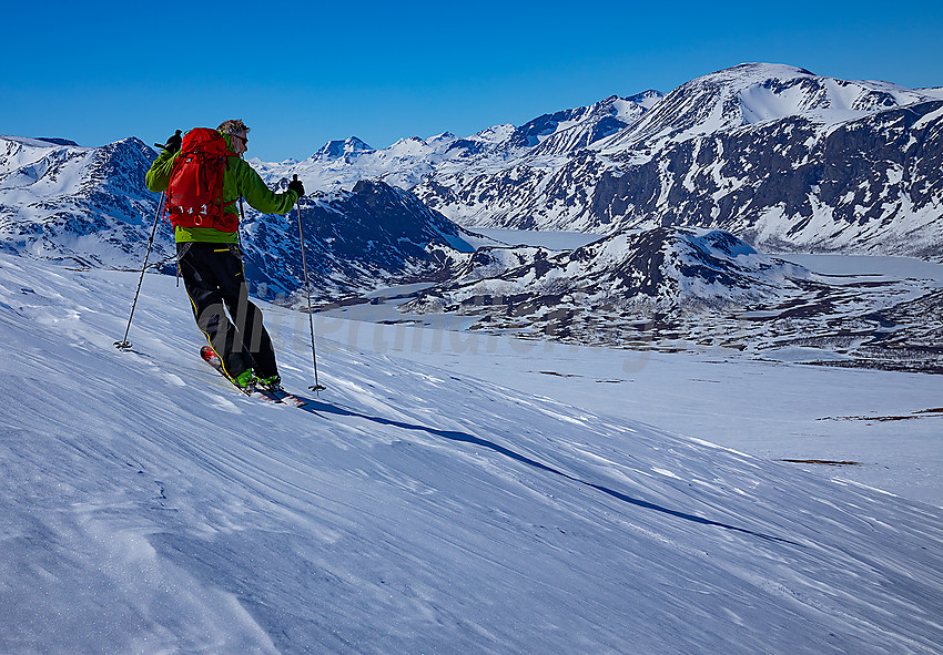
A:
<svg viewBox="0 0 943 655">
<path fill-rule="evenodd" d="M 154 152 L 131 137 L 102 147 L 0 136 L 0 249 L 79 266 L 140 267 L 158 211 L 144 186 Z M 152 260 L 172 255 L 161 222 Z"/>
</svg>

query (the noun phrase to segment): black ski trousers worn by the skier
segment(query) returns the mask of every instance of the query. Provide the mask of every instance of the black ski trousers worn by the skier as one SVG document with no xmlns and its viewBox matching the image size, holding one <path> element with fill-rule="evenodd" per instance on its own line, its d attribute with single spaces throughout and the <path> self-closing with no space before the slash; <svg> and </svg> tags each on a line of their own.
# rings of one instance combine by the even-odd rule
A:
<svg viewBox="0 0 943 655">
<path fill-rule="evenodd" d="M 262 310 L 249 299 L 236 245 L 180 243 L 176 253 L 196 325 L 226 373 L 236 378 L 252 368 L 260 378 L 277 375 L 272 339 L 262 325 Z"/>
</svg>

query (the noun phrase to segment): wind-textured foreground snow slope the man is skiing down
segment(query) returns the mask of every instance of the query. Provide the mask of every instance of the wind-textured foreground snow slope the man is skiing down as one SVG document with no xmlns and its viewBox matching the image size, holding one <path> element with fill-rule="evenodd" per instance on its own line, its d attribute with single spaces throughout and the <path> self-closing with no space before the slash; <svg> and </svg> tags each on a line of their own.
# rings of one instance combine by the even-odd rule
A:
<svg viewBox="0 0 943 655">
<path fill-rule="evenodd" d="M 336 342 L 265 405 L 172 278 L 115 350 L 135 283 L 0 255 L 0 652 L 943 643 L 939 508 Z M 307 321 L 267 316 L 303 389 Z"/>
</svg>

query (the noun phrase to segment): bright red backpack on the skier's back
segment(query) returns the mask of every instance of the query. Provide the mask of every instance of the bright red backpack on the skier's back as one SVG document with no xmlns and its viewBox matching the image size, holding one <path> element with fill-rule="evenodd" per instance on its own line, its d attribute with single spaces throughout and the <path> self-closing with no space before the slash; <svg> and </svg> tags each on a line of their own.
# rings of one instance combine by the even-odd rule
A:
<svg viewBox="0 0 943 655">
<path fill-rule="evenodd" d="M 239 215 L 224 212 L 235 198 L 223 204 L 223 174 L 229 157 L 234 156 L 215 130 L 194 127 L 183 135 L 168 186 L 166 212 L 172 225 L 239 229 Z"/>
</svg>

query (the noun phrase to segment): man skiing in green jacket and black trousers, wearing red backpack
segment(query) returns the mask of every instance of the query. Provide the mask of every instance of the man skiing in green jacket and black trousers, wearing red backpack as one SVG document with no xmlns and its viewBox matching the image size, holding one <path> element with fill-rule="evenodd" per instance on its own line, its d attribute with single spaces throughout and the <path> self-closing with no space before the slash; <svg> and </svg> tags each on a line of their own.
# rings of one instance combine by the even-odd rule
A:
<svg viewBox="0 0 943 655">
<path fill-rule="evenodd" d="M 275 350 L 262 311 L 249 300 L 235 204 L 244 197 L 264 214 L 287 214 L 304 186 L 297 178 L 282 194 L 265 186 L 242 158 L 249 132 L 241 120 L 231 120 L 215 131 L 191 130 L 182 147 L 179 136 L 168 140 L 148 171 L 146 184 L 154 193 L 168 192 L 180 274 L 196 325 L 220 356 L 224 373 L 242 389 L 277 389 Z M 210 201 L 207 188 L 214 196 Z"/>
</svg>

